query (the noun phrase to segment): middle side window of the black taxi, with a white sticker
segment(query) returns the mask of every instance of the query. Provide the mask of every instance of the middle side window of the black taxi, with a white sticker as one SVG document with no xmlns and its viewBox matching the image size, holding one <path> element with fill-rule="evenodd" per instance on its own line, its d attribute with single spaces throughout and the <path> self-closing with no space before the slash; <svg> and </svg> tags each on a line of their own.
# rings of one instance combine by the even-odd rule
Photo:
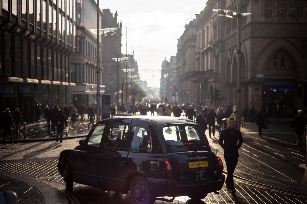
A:
<svg viewBox="0 0 307 204">
<path fill-rule="evenodd" d="M 110 124 L 104 147 L 111 147 L 111 148 L 124 147 L 125 141 L 127 141 L 127 131 L 126 131 L 127 129 L 128 125 L 125 124 Z"/>
</svg>

